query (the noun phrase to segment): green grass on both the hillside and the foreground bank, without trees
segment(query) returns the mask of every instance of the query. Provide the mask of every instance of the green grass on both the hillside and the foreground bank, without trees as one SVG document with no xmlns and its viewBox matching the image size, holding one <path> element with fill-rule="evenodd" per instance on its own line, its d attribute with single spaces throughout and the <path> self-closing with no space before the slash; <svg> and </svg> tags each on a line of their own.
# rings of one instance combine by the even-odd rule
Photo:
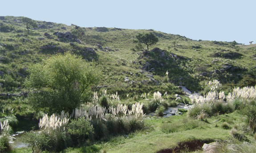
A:
<svg viewBox="0 0 256 153">
<path fill-rule="evenodd" d="M 163 105 L 175 106 L 175 94 L 182 97 L 183 103 L 188 104 L 190 101 L 183 96 L 183 92 L 178 86 L 184 85 L 194 92 L 202 92 L 204 83 L 213 79 L 217 79 L 223 85 L 222 89 L 226 94 L 232 91 L 235 86 L 250 84 L 250 79 L 245 77 L 249 75 L 255 79 L 255 60 L 253 55 L 256 55 L 256 45 L 236 45 L 225 43 L 224 45 L 214 44 L 213 41 L 193 41 L 182 36 L 167 34 L 152 30 L 133 30 L 107 28 L 108 32 L 97 32 L 96 28 L 85 28 L 86 39 L 82 44 L 70 45 L 74 40 L 62 38 L 57 39 L 53 35 L 54 32 L 71 32 L 74 26 L 65 24 L 56 24 L 45 21 L 38 21 L 38 24 L 45 24 L 46 28 L 34 29 L 33 32 L 27 33 L 24 24 L 15 22 L 21 20 L 21 17 L 5 16 L 5 22 L 1 23 L 14 28 L 14 31 L 1 32 L 0 44 L 6 46 L 0 47 L 0 71 L 4 75 L 0 75 L 0 93 L 21 93 L 33 92 L 24 88 L 24 80 L 29 77 L 29 69 L 36 63 L 41 63 L 57 52 L 73 52 L 78 56 L 82 56 L 87 62 L 95 62 L 102 70 L 102 79 L 98 86 L 106 85 L 107 87 L 99 89 L 91 87 L 91 95 L 98 91 L 102 93 L 103 89 L 107 89 L 107 93 L 115 94 L 118 92 L 121 101 L 113 101 L 108 99 L 107 103 L 102 105 L 117 105 L 118 103 L 126 104 L 128 107 L 135 101 L 144 103 L 144 111 L 155 111 L 158 105 L 154 105 L 153 93 L 159 91 L 162 97 L 166 99 Z M 50 26 L 53 25 L 52 28 Z M 67 30 L 61 29 L 66 27 Z M 48 32 L 53 39 L 48 39 L 44 33 Z M 138 33 L 153 32 L 158 36 L 159 42 L 150 46 L 150 50 L 157 47 L 160 48 L 167 58 L 163 58 L 160 52 L 134 52 L 131 51 L 135 44 L 133 39 Z M 20 36 L 23 34 L 24 36 Z M 27 36 L 26 36 L 27 35 Z M 42 37 L 44 40 L 38 40 Z M 28 39 L 29 41 L 24 40 Z M 177 45 L 174 49 L 172 42 L 176 41 Z M 98 44 L 102 48 L 110 47 L 113 51 L 102 51 L 98 48 Z M 42 46 L 56 45 L 57 48 L 42 49 Z M 169 46 L 169 47 L 168 47 Z M 197 47 L 195 47 L 197 46 Z M 59 47 L 59 48 L 58 48 Z M 85 51 L 85 48 L 93 48 L 96 54 L 92 55 Z M 60 49 L 61 48 L 61 49 Z M 146 48 L 146 46 L 144 46 Z M 14 55 L 13 55 L 14 54 Z M 231 54 L 232 56 L 228 55 Z M 228 56 L 227 56 L 228 55 Z M 177 56 L 177 58 L 172 57 Z M 151 72 L 139 72 L 141 68 L 149 62 L 150 68 L 154 68 Z M 163 64 L 164 66 L 162 66 Z M 223 72 L 209 72 L 220 70 L 222 66 L 228 64 L 238 69 L 229 69 Z M 166 72 L 169 72 L 168 76 Z M 206 73 L 204 73 L 206 72 Z M 22 74 L 22 75 L 21 75 Z M 147 74 L 153 75 L 153 78 L 159 84 L 150 81 Z M 128 77 L 133 83 L 126 83 L 124 78 Z M 146 81 L 145 81 L 146 80 Z M 253 81 L 252 81 L 253 83 Z M 34 91 L 37 91 L 36 89 Z M 163 93 L 167 92 L 166 96 Z M 141 97 L 142 94 L 147 94 L 147 97 Z M 149 95 L 148 95 L 149 93 Z M 127 94 L 129 96 L 127 97 Z M 240 102 L 236 102 L 235 109 L 242 107 Z M 37 125 L 33 119 L 38 119 L 40 113 L 35 112 L 30 107 L 27 97 L 0 97 L 0 117 L 8 115 L 16 115 L 20 121 L 16 130 L 29 130 Z M 69 148 L 66 152 L 101 152 L 103 149 L 107 152 L 157 152 L 162 149 L 169 149 L 177 146 L 180 142 L 191 140 L 214 141 L 227 140 L 231 136 L 230 129 L 235 124 L 238 126 L 238 132 L 248 129 L 246 116 L 237 113 L 231 113 L 234 108 L 227 106 L 222 107 L 215 105 L 214 111 L 211 111 L 209 105 L 203 106 L 192 112 L 192 117 L 197 117 L 201 110 L 208 114 L 208 118 L 204 121 L 198 119 L 188 119 L 187 114 L 183 116 L 175 116 L 170 118 L 151 117 L 145 119 L 146 127 L 143 130 L 131 130 L 129 137 L 116 136 L 110 137 L 108 142 L 96 141 L 91 142 L 86 147 Z M 221 112 L 222 111 L 222 112 Z M 217 115 L 217 113 L 224 115 Z M 24 119 L 26 118 L 26 119 Z M 29 124 L 24 124 L 29 119 Z M 229 128 L 223 129 L 221 125 L 227 122 Z M 134 125 L 133 123 L 130 123 Z M 152 125 L 152 127 L 151 127 Z M 136 134 L 136 135 L 135 135 Z M 249 138 L 252 138 L 250 133 Z M 94 144 L 94 145 L 91 145 Z M 16 149 L 16 152 L 22 149 Z M 24 149 L 23 152 L 31 152 Z"/>
</svg>

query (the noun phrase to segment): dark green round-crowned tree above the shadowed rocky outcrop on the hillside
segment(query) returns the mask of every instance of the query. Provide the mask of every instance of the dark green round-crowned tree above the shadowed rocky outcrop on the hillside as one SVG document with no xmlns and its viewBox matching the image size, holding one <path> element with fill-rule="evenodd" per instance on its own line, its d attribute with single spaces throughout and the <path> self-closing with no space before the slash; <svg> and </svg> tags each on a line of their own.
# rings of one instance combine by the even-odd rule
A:
<svg viewBox="0 0 256 153">
<path fill-rule="evenodd" d="M 152 44 L 156 44 L 158 42 L 158 37 L 154 35 L 154 33 L 138 33 L 136 36 L 138 43 L 146 44 L 146 47 L 148 49 L 148 46 Z M 136 42 L 135 41 L 135 42 Z"/>
</svg>

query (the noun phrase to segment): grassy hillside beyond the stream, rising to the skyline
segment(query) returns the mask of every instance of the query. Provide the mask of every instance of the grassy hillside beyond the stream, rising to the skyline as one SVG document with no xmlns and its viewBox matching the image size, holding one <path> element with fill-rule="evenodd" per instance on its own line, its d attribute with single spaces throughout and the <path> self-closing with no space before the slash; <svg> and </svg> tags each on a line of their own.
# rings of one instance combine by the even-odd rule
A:
<svg viewBox="0 0 256 153">
<path fill-rule="evenodd" d="M 5 23 L 10 23 L 10 25 L 15 25 L 16 29 L 20 29 L 22 31 L 26 31 L 24 29 L 24 25 L 22 23 L 16 23 L 14 20 L 20 20 L 20 17 L 12 17 L 6 16 Z M 0 48 L 1 55 L 3 56 L 2 63 L 0 65 L 1 71 L 4 74 L 7 74 L 8 71 L 11 71 L 9 74 L 12 76 L 12 84 L 14 86 L 12 89 L 10 87 L 7 89 L 8 91 L 16 90 L 16 87 L 23 88 L 24 77 L 17 75 L 17 72 L 28 76 L 28 72 L 24 72 L 23 68 L 30 68 L 34 63 L 41 62 L 43 59 L 51 56 L 54 52 L 57 52 L 56 49 L 41 49 L 41 46 L 55 44 L 57 47 L 65 48 L 67 51 L 71 51 L 77 53 L 78 55 L 82 55 L 81 49 L 77 49 L 77 47 L 72 47 L 69 45 L 69 41 L 61 40 L 62 42 L 57 41 L 57 36 L 53 35 L 53 32 L 61 31 L 67 32 L 71 31 L 74 26 L 66 26 L 64 24 L 55 24 L 55 23 L 46 23 L 45 21 L 38 21 L 39 24 L 45 24 L 47 26 L 53 25 L 53 28 L 39 28 L 38 30 L 34 30 L 32 34 L 29 36 L 24 36 L 24 38 L 30 41 L 24 41 L 22 37 L 16 37 L 16 32 L 1 32 L 0 42 L 1 44 L 8 44 L 8 48 Z M 67 30 L 61 29 L 62 26 L 65 26 Z M 93 56 L 96 60 L 96 63 L 100 65 L 103 71 L 103 78 L 100 82 L 100 85 L 112 85 L 114 87 L 119 88 L 119 86 L 123 86 L 122 89 L 127 89 L 127 84 L 124 83 L 124 77 L 130 77 L 130 80 L 134 80 L 135 83 L 138 81 L 142 81 L 146 79 L 146 76 L 140 75 L 131 76 L 130 74 L 123 74 L 124 72 L 133 72 L 138 73 L 139 68 L 144 66 L 145 62 L 148 61 L 150 63 L 158 60 L 160 63 L 163 63 L 165 66 L 161 67 L 159 65 L 151 66 L 155 68 L 155 71 L 152 72 L 157 81 L 163 81 L 163 76 L 165 72 L 169 71 L 170 81 L 177 85 L 185 85 L 192 91 L 200 90 L 200 84 L 203 80 L 212 80 L 218 79 L 221 83 L 226 84 L 232 81 L 236 83 L 241 80 L 241 77 L 236 75 L 241 73 L 247 73 L 246 71 L 237 71 L 231 72 L 230 70 L 227 72 L 223 72 L 217 74 L 215 76 L 209 75 L 199 75 L 201 72 L 211 72 L 215 69 L 222 68 L 222 65 L 225 63 L 232 64 L 233 67 L 246 68 L 251 69 L 255 64 L 255 60 L 252 55 L 256 54 L 255 46 L 232 46 L 230 44 L 226 45 L 216 45 L 212 41 L 193 41 L 187 38 L 183 38 L 182 36 L 171 35 L 163 32 L 154 32 L 159 37 L 159 42 L 151 46 L 150 49 L 154 47 L 158 47 L 161 49 L 168 50 L 168 46 L 172 48 L 170 51 L 165 51 L 167 55 L 170 53 L 174 53 L 178 56 L 187 57 L 185 60 L 176 60 L 173 62 L 173 59 L 161 59 L 158 54 L 150 54 L 149 57 L 142 56 L 142 54 L 137 54 L 137 52 L 133 52 L 130 49 L 134 48 L 132 40 L 136 36 L 138 32 L 149 32 L 151 30 L 131 30 L 131 29 L 122 29 L 121 31 L 116 30 L 115 28 L 108 28 L 109 32 L 97 32 L 95 28 L 85 28 L 86 29 L 86 39 L 83 44 L 77 45 L 79 48 L 92 47 L 98 48 L 96 45 L 99 43 L 102 47 L 110 47 L 112 49 L 116 48 L 118 51 L 114 52 L 104 52 L 101 50 L 97 50 L 97 56 Z M 19 34 L 22 34 L 21 32 Z M 44 33 L 48 32 L 52 34 L 54 39 L 48 39 L 44 36 Z M 38 37 L 44 37 L 45 40 L 38 40 Z M 177 41 L 177 50 L 175 50 L 171 44 L 172 41 Z M 16 46 L 14 44 L 18 44 Z M 200 48 L 193 48 L 192 46 L 199 46 Z M 216 52 L 221 52 L 221 50 L 226 50 L 225 52 L 235 52 L 239 53 L 238 56 L 234 56 L 232 58 L 223 58 L 223 57 L 213 57 L 213 54 Z M 29 50 L 29 51 L 28 51 Z M 114 49 L 115 50 L 115 49 Z M 24 55 L 22 55 L 23 52 Z M 16 57 L 12 55 L 15 54 Z M 90 55 L 84 56 L 85 59 L 91 60 Z M 219 61 L 215 63 L 211 63 L 212 60 L 218 59 Z M 138 61 L 142 61 L 142 65 L 138 64 Z M 136 62 L 134 64 L 133 62 Z M 232 75 L 233 74 L 233 75 Z M 1 83 L 7 83 L 9 80 L 5 77 L 1 76 Z M 135 84 L 135 87 L 141 87 L 138 84 Z M 10 86 L 10 85 L 9 85 Z M 130 88 L 133 88 L 131 85 L 128 85 Z M 7 88 L 7 87 L 6 87 Z M 113 88 L 113 87 L 111 87 Z M 110 88 L 110 89 L 111 89 Z M 129 88 L 129 89 L 130 89 Z M 134 89 L 133 89 L 134 90 Z M 156 90 L 156 89 L 155 89 Z M 115 91 L 113 90 L 113 93 Z M 126 93 L 130 93 L 131 91 L 126 91 Z M 138 92 L 138 91 L 137 91 Z M 139 93 L 142 93 L 139 92 Z M 134 93 L 135 94 L 135 93 Z"/>
</svg>

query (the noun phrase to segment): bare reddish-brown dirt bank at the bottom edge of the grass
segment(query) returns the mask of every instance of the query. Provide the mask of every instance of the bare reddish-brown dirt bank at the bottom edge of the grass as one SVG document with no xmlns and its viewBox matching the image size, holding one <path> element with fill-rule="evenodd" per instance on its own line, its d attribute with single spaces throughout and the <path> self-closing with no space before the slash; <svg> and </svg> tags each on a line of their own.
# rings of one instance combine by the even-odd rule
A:
<svg viewBox="0 0 256 153">
<path fill-rule="evenodd" d="M 175 148 L 170 149 L 162 149 L 158 151 L 157 153 L 183 153 L 184 151 L 196 151 L 196 150 L 202 150 L 203 144 L 205 143 L 211 143 L 214 140 L 191 140 L 186 142 L 180 142 L 178 146 Z"/>
</svg>

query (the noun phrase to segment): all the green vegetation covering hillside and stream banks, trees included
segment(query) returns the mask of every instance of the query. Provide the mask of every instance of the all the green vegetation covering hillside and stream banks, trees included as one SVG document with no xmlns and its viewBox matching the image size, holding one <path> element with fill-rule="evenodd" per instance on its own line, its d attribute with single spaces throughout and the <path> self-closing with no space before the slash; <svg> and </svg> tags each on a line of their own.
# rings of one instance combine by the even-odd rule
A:
<svg viewBox="0 0 256 153">
<path fill-rule="evenodd" d="M 256 45 L 45 21 L 28 32 L 22 17 L 4 18 L 0 152 L 202 152 L 216 140 L 225 152 L 255 152 Z M 154 49 L 132 43 L 146 33 Z M 183 115 L 158 116 L 170 106 Z M 39 128 L 24 135 L 34 148 L 8 143 Z"/>
</svg>

